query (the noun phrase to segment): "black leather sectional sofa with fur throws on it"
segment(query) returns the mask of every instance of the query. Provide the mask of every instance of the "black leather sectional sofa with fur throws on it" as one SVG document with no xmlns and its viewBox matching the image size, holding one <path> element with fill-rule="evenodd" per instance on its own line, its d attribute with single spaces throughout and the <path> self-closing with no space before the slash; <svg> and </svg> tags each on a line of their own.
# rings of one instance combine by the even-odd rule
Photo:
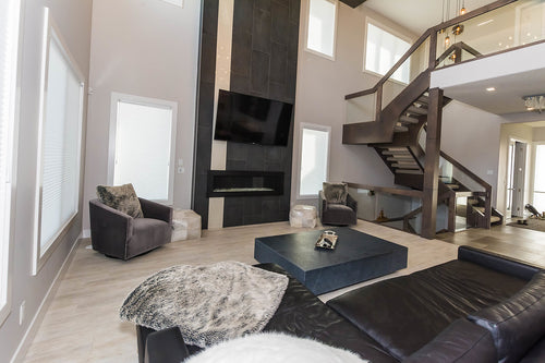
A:
<svg viewBox="0 0 545 363">
<path fill-rule="evenodd" d="M 374 363 L 545 362 L 545 271 L 462 246 L 456 261 L 327 304 L 290 277 L 264 330 L 313 337 Z M 199 350 L 178 328 L 136 331 L 141 363 L 180 362 Z"/>
</svg>

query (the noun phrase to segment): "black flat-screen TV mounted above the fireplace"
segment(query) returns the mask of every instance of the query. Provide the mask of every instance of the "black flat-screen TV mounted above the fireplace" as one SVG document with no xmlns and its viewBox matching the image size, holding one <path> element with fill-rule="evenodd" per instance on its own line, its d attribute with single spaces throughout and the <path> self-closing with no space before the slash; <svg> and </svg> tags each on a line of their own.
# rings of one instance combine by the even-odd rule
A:
<svg viewBox="0 0 545 363">
<path fill-rule="evenodd" d="M 293 105 L 220 89 L 215 140 L 288 145 Z"/>
</svg>

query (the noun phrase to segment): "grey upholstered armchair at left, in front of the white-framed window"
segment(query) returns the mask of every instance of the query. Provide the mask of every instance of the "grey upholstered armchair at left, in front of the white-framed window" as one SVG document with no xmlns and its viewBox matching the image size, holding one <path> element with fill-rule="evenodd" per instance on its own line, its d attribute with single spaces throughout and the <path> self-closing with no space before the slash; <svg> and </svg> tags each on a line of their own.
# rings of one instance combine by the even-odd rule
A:
<svg viewBox="0 0 545 363">
<path fill-rule="evenodd" d="M 89 201 L 93 250 L 110 257 L 129 259 L 170 242 L 172 208 L 138 199 L 144 218 L 133 218 L 99 199 Z"/>
</svg>

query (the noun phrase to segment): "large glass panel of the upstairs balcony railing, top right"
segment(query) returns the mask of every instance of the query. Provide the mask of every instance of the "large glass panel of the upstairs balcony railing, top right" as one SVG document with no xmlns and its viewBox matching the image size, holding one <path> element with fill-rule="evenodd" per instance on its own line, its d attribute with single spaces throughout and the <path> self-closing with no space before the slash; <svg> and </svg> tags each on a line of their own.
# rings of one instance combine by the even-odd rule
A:
<svg viewBox="0 0 545 363">
<path fill-rule="evenodd" d="M 458 58 L 443 60 L 437 68 L 524 46 L 545 38 L 545 0 L 520 0 L 449 26 L 437 34 L 437 58 L 451 47 L 464 44 L 471 48 Z"/>
</svg>

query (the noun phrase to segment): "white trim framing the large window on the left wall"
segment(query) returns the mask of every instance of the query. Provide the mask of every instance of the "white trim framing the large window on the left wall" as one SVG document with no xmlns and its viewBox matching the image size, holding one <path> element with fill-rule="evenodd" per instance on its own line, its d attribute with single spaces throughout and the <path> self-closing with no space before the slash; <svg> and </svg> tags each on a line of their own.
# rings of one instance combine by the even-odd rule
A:
<svg viewBox="0 0 545 363">
<path fill-rule="evenodd" d="M 84 106 L 84 90 L 85 77 L 77 66 L 75 58 L 71 55 L 68 44 L 62 37 L 59 27 L 55 20 L 49 14 L 49 9 L 44 7 L 44 24 L 43 24 L 43 44 L 41 44 L 41 70 L 40 70 L 40 98 L 39 98 L 39 117 L 38 117 L 38 142 L 37 142 L 37 167 L 36 167 L 36 192 L 35 192 L 35 209 L 34 209 L 34 247 L 33 247 L 33 275 L 37 275 L 41 267 L 45 265 L 49 256 L 53 253 L 55 249 L 59 245 L 62 237 L 65 235 L 70 226 L 72 226 L 75 217 L 80 213 L 80 184 L 81 184 L 81 167 L 82 167 L 82 132 L 83 132 L 83 106 Z M 76 179 L 76 203 L 75 211 L 64 222 L 64 225 L 57 231 L 57 233 L 41 247 L 40 242 L 40 227 L 41 227 L 41 178 L 44 171 L 43 147 L 44 147 L 44 121 L 46 116 L 46 93 L 48 86 L 48 66 L 49 66 L 49 48 L 51 40 L 59 45 L 59 50 L 70 66 L 71 71 L 80 81 L 80 114 L 77 125 L 77 179 Z"/>
</svg>

